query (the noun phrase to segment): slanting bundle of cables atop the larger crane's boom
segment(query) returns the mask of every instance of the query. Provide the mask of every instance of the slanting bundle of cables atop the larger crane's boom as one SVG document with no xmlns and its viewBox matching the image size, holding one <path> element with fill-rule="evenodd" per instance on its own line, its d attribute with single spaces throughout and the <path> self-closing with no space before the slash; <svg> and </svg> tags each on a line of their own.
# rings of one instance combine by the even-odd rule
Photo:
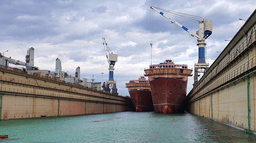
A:
<svg viewBox="0 0 256 143">
<path fill-rule="evenodd" d="M 156 7 L 154 7 L 154 8 L 156 8 Z M 174 17 L 178 17 L 178 18 L 185 19 L 185 20 L 188 20 L 191 22 L 195 22 L 195 23 L 198 23 L 202 18 L 200 16 L 185 14 L 185 13 L 181 13 L 181 12 L 175 12 L 175 11 L 161 9 L 161 8 L 156 8 L 156 9 L 165 12 L 165 14 L 167 14 L 167 15 L 172 15 Z"/>
</svg>

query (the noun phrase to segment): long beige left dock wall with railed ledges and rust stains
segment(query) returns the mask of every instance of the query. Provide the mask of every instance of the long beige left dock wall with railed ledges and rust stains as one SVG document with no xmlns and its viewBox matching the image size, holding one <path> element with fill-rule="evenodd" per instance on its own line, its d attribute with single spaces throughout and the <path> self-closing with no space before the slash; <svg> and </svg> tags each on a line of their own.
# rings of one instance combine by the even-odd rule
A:
<svg viewBox="0 0 256 143">
<path fill-rule="evenodd" d="M 0 119 L 131 111 L 130 98 L 0 67 Z"/>
</svg>

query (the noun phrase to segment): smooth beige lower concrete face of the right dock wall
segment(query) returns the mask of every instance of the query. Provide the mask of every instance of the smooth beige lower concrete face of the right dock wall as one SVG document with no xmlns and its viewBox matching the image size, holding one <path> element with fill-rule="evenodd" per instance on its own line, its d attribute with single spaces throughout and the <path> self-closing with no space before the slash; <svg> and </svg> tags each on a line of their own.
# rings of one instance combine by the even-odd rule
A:
<svg viewBox="0 0 256 143">
<path fill-rule="evenodd" d="M 249 96 L 250 129 L 256 132 L 256 75 L 251 75 L 249 81 L 250 87 L 252 87 L 249 90 L 251 93 Z M 241 80 L 227 89 L 220 89 L 213 92 L 212 95 L 208 94 L 189 103 L 187 111 L 224 124 L 248 129 L 246 89 L 247 81 Z"/>
</svg>

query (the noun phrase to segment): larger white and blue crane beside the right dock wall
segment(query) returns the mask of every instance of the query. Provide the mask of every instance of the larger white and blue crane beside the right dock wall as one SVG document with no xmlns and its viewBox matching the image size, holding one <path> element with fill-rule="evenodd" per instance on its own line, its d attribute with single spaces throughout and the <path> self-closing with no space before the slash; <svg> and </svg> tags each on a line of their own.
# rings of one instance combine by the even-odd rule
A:
<svg viewBox="0 0 256 143">
<path fill-rule="evenodd" d="M 200 72 L 206 72 L 209 69 L 209 63 L 206 63 L 205 61 L 205 48 L 206 48 L 206 42 L 205 40 L 211 35 L 212 33 L 212 21 L 210 19 L 205 19 L 203 17 L 184 14 L 180 12 L 165 10 L 156 8 L 154 6 L 150 6 L 151 9 L 155 10 L 156 12 L 160 13 L 162 16 L 167 18 L 171 23 L 176 24 L 177 26 L 183 28 L 185 31 L 187 31 L 192 37 L 197 38 L 197 46 L 198 46 L 198 63 L 195 63 L 195 74 L 194 74 L 194 84 L 195 85 L 198 82 L 198 73 Z M 185 26 L 179 24 L 174 19 L 170 18 L 167 14 L 186 19 L 192 22 L 199 23 L 199 29 L 196 31 L 196 34 L 190 31 Z M 151 44 L 151 43 L 150 43 Z M 202 70 L 204 69 L 204 70 Z"/>
</svg>

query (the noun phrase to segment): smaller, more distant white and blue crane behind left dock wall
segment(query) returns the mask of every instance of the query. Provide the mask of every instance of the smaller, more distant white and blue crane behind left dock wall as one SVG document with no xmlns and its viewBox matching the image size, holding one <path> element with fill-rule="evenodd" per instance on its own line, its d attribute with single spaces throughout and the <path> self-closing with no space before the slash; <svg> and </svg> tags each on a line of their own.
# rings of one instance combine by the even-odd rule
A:
<svg viewBox="0 0 256 143">
<path fill-rule="evenodd" d="M 114 81 L 114 66 L 115 66 L 115 63 L 117 62 L 117 54 L 113 54 L 113 52 L 107 45 L 105 38 L 102 38 L 102 43 L 103 43 L 104 51 L 106 53 L 107 62 L 109 65 L 109 68 L 108 68 L 109 78 L 108 78 L 108 81 L 106 81 L 107 84 L 105 84 L 104 82 L 102 87 L 105 91 L 110 92 L 112 90 L 111 91 L 112 94 L 118 95 L 117 88 L 116 88 L 116 81 Z"/>
</svg>

